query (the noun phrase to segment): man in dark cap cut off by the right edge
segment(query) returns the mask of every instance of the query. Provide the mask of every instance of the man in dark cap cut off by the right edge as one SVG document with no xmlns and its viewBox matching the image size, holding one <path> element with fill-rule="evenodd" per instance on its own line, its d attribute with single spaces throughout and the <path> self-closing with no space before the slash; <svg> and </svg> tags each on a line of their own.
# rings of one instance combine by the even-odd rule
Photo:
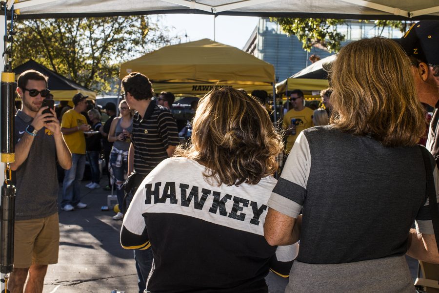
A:
<svg viewBox="0 0 439 293">
<path fill-rule="evenodd" d="M 428 133 L 427 149 L 439 166 L 439 21 L 419 21 L 399 40 L 413 64 L 419 101 L 436 108 Z"/>
</svg>

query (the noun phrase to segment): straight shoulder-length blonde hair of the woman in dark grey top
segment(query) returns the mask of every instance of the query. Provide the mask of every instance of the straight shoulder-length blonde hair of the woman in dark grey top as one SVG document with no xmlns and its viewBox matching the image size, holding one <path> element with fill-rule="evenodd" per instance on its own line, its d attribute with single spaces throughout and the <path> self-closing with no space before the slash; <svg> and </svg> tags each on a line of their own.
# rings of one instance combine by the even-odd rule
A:
<svg viewBox="0 0 439 293">
<path fill-rule="evenodd" d="M 396 42 L 375 37 L 347 44 L 329 79 L 335 127 L 370 134 L 384 146 L 414 146 L 424 134 L 410 61 Z"/>
</svg>

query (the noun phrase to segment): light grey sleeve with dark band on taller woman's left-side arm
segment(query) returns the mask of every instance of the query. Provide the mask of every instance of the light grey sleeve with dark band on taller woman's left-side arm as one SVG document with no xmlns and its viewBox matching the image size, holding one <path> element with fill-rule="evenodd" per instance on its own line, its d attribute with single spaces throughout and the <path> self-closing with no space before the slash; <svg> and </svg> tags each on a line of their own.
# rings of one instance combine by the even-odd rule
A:
<svg viewBox="0 0 439 293">
<path fill-rule="evenodd" d="M 271 193 L 268 206 L 287 216 L 297 218 L 305 201 L 306 183 L 311 168 L 308 141 L 300 132 Z"/>
</svg>

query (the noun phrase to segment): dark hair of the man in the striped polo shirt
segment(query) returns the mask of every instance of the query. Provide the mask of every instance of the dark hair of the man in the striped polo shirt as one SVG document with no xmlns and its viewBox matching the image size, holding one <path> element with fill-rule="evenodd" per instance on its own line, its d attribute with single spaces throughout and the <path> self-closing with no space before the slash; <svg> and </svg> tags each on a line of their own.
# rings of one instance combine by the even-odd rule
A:
<svg viewBox="0 0 439 293">
<path fill-rule="evenodd" d="M 131 72 L 122 79 L 123 90 L 130 93 L 134 99 L 149 100 L 154 94 L 154 89 L 149 78 L 140 72 Z"/>
</svg>

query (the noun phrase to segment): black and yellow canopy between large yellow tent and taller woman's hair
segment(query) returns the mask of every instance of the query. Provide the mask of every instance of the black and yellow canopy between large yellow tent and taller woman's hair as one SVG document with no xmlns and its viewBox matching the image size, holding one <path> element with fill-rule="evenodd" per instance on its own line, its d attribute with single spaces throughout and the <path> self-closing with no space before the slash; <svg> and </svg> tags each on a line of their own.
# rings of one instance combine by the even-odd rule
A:
<svg viewBox="0 0 439 293">
<path fill-rule="evenodd" d="M 303 68 L 288 79 L 276 84 L 276 93 L 284 93 L 286 87 L 288 87 L 289 90 L 301 89 L 307 91 L 327 88 L 329 86 L 328 73 L 323 70 L 322 65 L 324 63 L 332 63 L 336 58 L 337 55 L 334 54 Z"/>
</svg>

